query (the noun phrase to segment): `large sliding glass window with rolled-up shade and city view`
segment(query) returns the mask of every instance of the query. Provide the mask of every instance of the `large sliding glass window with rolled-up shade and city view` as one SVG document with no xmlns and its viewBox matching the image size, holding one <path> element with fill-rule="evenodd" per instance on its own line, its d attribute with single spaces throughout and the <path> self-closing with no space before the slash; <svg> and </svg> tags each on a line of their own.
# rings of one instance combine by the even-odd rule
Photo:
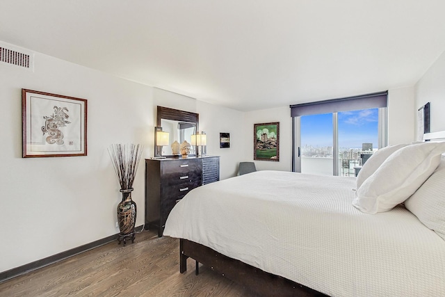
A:
<svg viewBox="0 0 445 297">
<path fill-rule="evenodd" d="M 355 176 L 387 145 L 387 92 L 291 106 L 292 170 Z"/>
</svg>

